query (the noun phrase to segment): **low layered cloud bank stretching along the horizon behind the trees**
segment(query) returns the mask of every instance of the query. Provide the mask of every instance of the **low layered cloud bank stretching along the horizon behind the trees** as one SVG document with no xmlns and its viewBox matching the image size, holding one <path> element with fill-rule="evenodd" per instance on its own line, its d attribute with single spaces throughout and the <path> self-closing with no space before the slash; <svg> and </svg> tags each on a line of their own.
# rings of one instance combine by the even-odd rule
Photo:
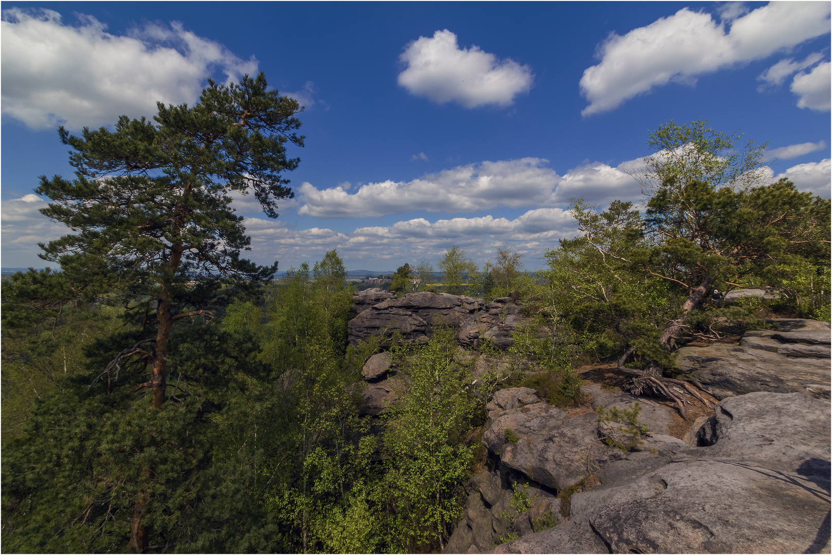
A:
<svg viewBox="0 0 832 555">
<path fill-rule="evenodd" d="M 807 147 L 792 145 L 775 150 L 788 152 L 799 151 L 800 148 Z M 641 189 L 627 173 L 635 169 L 638 162 L 626 161 L 616 167 L 595 162 L 577 166 L 564 176 L 558 176 L 545 166 L 545 160 L 485 161 L 406 183 L 384 181 L 368 184 L 352 195 L 346 194 L 340 186 L 318 191 L 305 184 L 301 187 L 300 202 L 282 202 L 284 209 L 301 204 L 298 209 L 300 214 L 329 218 L 365 217 L 366 211 L 373 211 L 373 216 L 400 214 L 410 211 L 410 203 L 428 199 L 437 206 L 448 202 L 444 209 L 434 210 L 446 213 L 490 210 L 500 206 L 517 208 L 548 205 L 528 210 L 512 220 L 489 215 L 439 219 L 432 223 L 425 218 L 414 218 L 397 221 L 392 225 L 358 227 L 344 233 L 325 227 L 297 230 L 284 221 L 255 216 L 245 219 L 245 227 L 251 236 L 252 250 L 270 260 L 284 259 L 301 249 L 316 256 L 323 255 L 327 250 L 338 249 L 342 255 L 349 256 L 350 260 L 375 260 L 379 257 L 396 259 L 401 256 L 433 260 L 451 245 L 463 246 L 469 250 L 469 255 L 484 260 L 505 243 L 512 243 L 527 258 L 536 259 L 545 250 L 557 245 L 557 240 L 574 235 L 572 216 L 569 211 L 558 207 L 567 206 L 570 198 L 580 196 L 590 204 L 604 207 L 613 200 L 631 201 L 640 206 L 643 199 Z M 513 173 L 512 169 L 518 167 L 521 171 Z M 529 172 L 528 181 L 522 181 L 523 171 Z M 788 177 L 800 191 L 813 191 L 825 198 L 830 197 L 832 166 L 829 158 L 791 166 L 776 176 L 770 168 L 766 167 L 763 171 L 770 181 Z M 448 187 L 448 182 L 454 180 L 463 181 L 464 185 Z M 524 183 L 527 187 L 523 186 Z M 305 191 L 309 188 L 319 195 L 307 196 Z M 467 194 L 457 192 L 454 196 L 441 196 L 441 191 L 446 190 L 463 190 Z M 393 194 L 385 194 L 385 191 L 393 191 Z M 396 195 L 396 191 L 401 191 L 401 194 Z M 479 196 L 480 191 L 490 193 L 488 199 L 483 200 Z M 527 191 L 527 196 L 519 196 L 518 191 Z M 535 195 L 540 198 L 533 198 Z M 548 200 L 542 200 L 544 196 Z M 314 204 L 310 204 L 310 199 Z M 38 210 L 45 206 L 47 201 L 32 194 L 2 202 L 0 217 L 3 250 L 6 254 L 31 248 L 32 243 L 37 241 L 53 240 L 66 234 L 63 225 L 48 221 L 40 215 Z M 243 214 L 256 214 L 260 211 L 259 204 L 252 196 L 235 196 L 233 206 Z"/>
</svg>

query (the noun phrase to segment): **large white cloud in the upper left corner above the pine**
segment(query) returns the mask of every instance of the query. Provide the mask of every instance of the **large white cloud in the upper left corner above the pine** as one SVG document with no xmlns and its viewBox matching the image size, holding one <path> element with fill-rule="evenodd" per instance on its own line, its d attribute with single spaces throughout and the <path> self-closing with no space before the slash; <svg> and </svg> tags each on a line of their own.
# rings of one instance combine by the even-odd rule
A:
<svg viewBox="0 0 832 555">
<path fill-rule="evenodd" d="M 207 77 L 255 73 L 218 42 L 181 23 L 148 24 L 128 36 L 106 32 L 95 17 L 76 27 L 52 10 L 2 11 L 2 111 L 33 129 L 115 123 L 118 116 L 153 116 L 156 101 L 194 102 Z"/>
</svg>

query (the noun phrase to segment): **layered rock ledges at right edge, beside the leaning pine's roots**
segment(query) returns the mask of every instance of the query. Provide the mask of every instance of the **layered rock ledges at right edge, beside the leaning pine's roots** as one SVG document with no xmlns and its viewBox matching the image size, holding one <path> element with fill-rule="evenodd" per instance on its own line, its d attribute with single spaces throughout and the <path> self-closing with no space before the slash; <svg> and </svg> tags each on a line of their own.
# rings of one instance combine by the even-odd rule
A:
<svg viewBox="0 0 832 555">
<path fill-rule="evenodd" d="M 830 325 L 770 320 L 776 330 L 746 332 L 739 345 L 683 347 L 676 364 L 716 399 L 754 391 L 805 391 L 830 399 Z"/>
</svg>

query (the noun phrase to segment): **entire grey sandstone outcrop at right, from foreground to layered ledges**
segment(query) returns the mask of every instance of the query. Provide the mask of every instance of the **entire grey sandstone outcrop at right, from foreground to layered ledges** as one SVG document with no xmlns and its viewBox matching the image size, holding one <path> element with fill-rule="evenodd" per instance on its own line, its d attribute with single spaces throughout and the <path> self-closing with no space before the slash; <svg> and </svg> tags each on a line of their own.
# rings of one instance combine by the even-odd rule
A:
<svg viewBox="0 0 832 555">
<path fill-rule="evenodd" d="M 493 466 L 468 483 L 445 553 L 830 553 L 830 358 L 790 350 L 828 349 L 829 325 L 775 323 L 740 345 L 680 349 L 682 364 L 721 399 L 687 433 L 666 404 L 585 386 L 592 409 L 641 404 L 650 433 L 626 452 L 602 443 L 617 429 L 588 408 L 549 407 L 531 389 L 498 391 L 483 435 Z M 708 381 L 717 363 L 732 370 L 720 382 L 730 387 Z M 588 488 L 583 478 L 600 483 Z M 537 513 L 509 523 L 501 514 L 511 513 L 511 484 L 526 482 Z M 545 510 L 557 526 L 540 531 L 533 523 Z M 509 531 L 520 537 L 500 543 Z"/>
</svg>

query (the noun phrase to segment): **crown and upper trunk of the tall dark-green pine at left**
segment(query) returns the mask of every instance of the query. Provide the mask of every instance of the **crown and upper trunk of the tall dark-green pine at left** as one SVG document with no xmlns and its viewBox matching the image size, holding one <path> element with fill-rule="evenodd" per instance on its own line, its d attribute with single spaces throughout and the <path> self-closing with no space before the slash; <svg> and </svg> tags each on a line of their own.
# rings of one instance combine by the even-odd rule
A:
<svg viewBox="0 0 832 555">
<path fill-rule="evenodd" d="M 286 143 L 304 140 L 295 134 L 302 107 L 268 90 L 262 73 L 209 82 L 193 107 L 157 106 L 154 121 L 121 116 L 115 131 L 85 127 L 72 136 L 61 127 L 77 178 L 42 176 L 36 190 L 53 201 L 42 213 L 76 232 L 41 244 L 41 257 L 84 288 L 121 291 L 124 305 L 156 328 L 155 339 L 127 351 L 152 361 L 151 379 L 136 389 L 151 388 L 156 408 L 166 399 L 174 322 L 212 317 L 205 309 L 218 282 L 263 280 L 276 270 L 240 260 L 250 238 L 230 194 L 253 191 L 277 217 L 275 201 L 294 196 L 282 174 L 299 163 Z"/>
</svg>

